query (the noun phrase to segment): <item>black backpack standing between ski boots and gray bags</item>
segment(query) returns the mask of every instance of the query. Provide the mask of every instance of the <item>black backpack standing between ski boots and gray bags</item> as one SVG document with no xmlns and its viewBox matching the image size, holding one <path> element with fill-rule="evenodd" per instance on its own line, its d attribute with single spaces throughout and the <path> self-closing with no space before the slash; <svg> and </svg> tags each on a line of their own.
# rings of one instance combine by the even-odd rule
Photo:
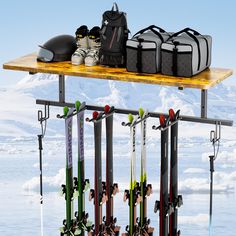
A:
<svg viewBox="0 0 236 236">
<path fill-rule="evenodd" d="M 114 3 L 111 11 L 103 13 L 99 52 L 101 65 L 125 67 L 128 34 L 126 13 L 120 12 Z"/>
</svg>

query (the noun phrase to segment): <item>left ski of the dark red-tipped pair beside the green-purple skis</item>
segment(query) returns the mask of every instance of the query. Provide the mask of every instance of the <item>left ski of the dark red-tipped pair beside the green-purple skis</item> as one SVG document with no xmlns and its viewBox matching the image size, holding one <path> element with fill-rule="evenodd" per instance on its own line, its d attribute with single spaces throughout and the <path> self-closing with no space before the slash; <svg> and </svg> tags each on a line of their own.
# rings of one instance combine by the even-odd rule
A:
<svg viewBox="0 0 236 236">
<path fill-rule="evenodd" d="M 94 123 L 95 165 L 94 189 L 90 190 L 89 200 L 94 199 L 94 232 L 95 236 L 102 235 L 104 225 L 102 222 L 102 204 L 107 201 L 106 191 L 102 183 L 102 116 L 103 113 L 93 112 L 93 118 L 87 121 Z"/>
</svg>

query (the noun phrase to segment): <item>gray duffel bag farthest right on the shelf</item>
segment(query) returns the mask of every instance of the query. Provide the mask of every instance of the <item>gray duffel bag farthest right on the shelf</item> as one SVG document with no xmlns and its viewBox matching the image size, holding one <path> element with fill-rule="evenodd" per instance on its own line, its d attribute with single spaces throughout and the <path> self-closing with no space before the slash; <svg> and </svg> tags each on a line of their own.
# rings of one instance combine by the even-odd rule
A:
<svg viewBox="0 0 236 236">
<path fill-rule="evenodd" d="M 211 64 L 212 38 L 185 28 L 161 46 L 161 72 L 164 75 L 191 77 Z"/>
</svg>

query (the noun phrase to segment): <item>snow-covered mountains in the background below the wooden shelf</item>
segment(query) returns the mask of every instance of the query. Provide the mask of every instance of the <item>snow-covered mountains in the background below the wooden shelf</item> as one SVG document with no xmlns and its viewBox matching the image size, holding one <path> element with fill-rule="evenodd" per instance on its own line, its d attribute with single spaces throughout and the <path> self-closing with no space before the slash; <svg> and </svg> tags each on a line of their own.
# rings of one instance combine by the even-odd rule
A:
<svg viewBox="0 0 236 236">
<path fill-rule="evenodd" d="M 0 116 L 0 137 L 32 136 L 38 132 L 37 109 L 35 99 L 58 99 L 57 75 L 28 75 L 13 89 L 0 90 L 3 106 Z M 222 119 L 234 119 L 236 114 L 236 86 L 229 87 L 221 83 L 209 90 L 208 116 Z M 66 77 L 66 101 L 86 101 L 87 104 L 138 109 L 140 106 L 149 111 L 167 112 L 170 107 L 180 109 L 182 114 L 200 114 L 200 91 L 197 89 L 178 90 L 176 87 L 164 87 L 138 83 L 124 83 L 101 79 Z M 58 129 L 61 124 L 55 117 L 59 108 L 51 109 L 48 135 L 63 134 Z M 120 122 L 117 118 L 117 125 Z M 184 124 L 192 127 L 193 124 Z M 201 127 L 199 126 L 200 132 Z M 203 125 L 204 127 L 204 125 Z M 229 129 L 230 130 L 230 129 Z M 231 129 L 230 133 L 235 134 Z M 192 132 L 191 132 L 192 133 Z"/>
</svg>

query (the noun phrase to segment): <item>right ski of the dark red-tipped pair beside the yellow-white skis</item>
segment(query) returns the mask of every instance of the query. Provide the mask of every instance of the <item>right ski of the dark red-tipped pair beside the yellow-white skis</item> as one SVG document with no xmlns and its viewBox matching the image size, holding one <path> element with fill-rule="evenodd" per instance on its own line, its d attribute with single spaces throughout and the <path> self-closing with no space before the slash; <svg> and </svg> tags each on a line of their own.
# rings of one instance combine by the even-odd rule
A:
<svg viewBox="0 0 236 236">
<path fill-rule="evenodd" d="M 103 221 L 106 225 L 107 235 L 119 235 L 120 227 L 116 225 L 117 219 L 113 215 L 113 197 L 119 191 L 118 184 L 113 181 L 113 112 L 114 107 L 104 107 L 106 120 L 106 217 Z"/>
</svg>

